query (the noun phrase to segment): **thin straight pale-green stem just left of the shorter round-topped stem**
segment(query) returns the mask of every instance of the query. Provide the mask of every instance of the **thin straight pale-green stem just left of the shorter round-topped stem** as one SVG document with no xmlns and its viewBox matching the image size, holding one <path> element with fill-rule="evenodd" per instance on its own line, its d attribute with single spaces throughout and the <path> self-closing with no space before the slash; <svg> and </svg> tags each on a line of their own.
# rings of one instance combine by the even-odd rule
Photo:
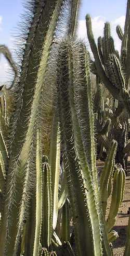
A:
<svg viewBox="0 0 130 256">
<path fill-rule="evenodd" d="M 36 225 L 33 256 L 37 256 L 40 249 L 41 229 L 42 229 L 42 148 L 41 131 L 37 129 L 36 143 Z M 45 195 L 44 195 L 45 196 Z"/>
</svg>

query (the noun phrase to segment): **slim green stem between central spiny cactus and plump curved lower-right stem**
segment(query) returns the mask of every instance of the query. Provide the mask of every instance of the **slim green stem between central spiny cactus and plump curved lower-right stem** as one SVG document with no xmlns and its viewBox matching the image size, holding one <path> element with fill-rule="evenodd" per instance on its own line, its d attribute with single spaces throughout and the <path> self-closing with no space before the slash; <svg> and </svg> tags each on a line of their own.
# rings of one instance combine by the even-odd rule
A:
<svg viewBox="0 0 130 256">
<path fill-rule="evenodd" d="M 110 144 L 107 159 L 105 161 L 105 166 L 100 175 L 100 194 L 104 216 L 106 214 L 107 199 L 111 193 L 111 179 L 114 169 L 114 157 L 116 153 L 116 148 L 117 143 L 115 141 L 112 141 L 112 143 Z"/>
</svg>

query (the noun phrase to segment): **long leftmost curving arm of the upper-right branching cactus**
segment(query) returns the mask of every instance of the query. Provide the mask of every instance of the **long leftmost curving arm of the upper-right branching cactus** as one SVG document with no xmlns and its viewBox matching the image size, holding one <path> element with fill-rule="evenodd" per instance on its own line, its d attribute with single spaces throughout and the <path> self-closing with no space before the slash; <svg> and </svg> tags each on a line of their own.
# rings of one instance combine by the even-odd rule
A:
<svg viewBox="0 0 130 256">
<path fill-rule="evenodd" d="M 87 26 L 87 36 L 88 36 L 88 40 L 89 40 L 89 43 L 90 43 L 90 48 L 91 48 L 91 50 L 94 54 L 94 59 L 95 59 L 95 64 L 96 64 L 98 74 L 100 75 L 100 78 L 101 78 L 103 84 L 105 84 L 105 86 L 111 92 L 113 97 L 118 99 L 118 90 L 116 90 L 116 88 L 110 82 L 110 80 L 108 79 L 108 77 L 105 74 L 105 71 L 102 68 L 102 65 L 101 65 L 101 62 L 100 62 L 100 59 L 99 59 L 97 46 L 96 46 L 96 43 L 95 43 L 95 40 L 94 40 L 94 35 L 93 35 L 93 31 L 92 31 L 92 24 L 91 24 L 91 19 L 90 19 L 89 15 L 86 16 L 86 26 Z"/>
</svg>

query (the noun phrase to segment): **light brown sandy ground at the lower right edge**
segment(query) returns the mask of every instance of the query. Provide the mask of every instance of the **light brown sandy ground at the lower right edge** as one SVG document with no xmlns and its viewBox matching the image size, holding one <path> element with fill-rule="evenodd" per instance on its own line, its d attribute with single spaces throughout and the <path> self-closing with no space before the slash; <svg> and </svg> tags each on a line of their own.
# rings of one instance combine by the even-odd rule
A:
<svg viewBox="0 0 130 256">
<path fill-rule="evenodd" d="M 97 161 L 98 169 L 102 169 L 103 163 Z M 108 202 L 108 209 L 109 210 L 110 199 Z M 113 254 L 114 256 L 123 256 L 124 248 L 125 248 L 125 241 L 126 241 L 126 233 L 127 233 L 127 224 L 128 224 L 128 217 L 127 214 L 128 207 L 130 207 L 130 157 L 128 158 L 128 170 L 125 182 L 125 194 L 122 205 L 119 209 L 119 213 L 116 217 L 116 223 L 114 226 L 114 230 L 118 231 L 119 238 L 113 242 Z"/>
</svg>

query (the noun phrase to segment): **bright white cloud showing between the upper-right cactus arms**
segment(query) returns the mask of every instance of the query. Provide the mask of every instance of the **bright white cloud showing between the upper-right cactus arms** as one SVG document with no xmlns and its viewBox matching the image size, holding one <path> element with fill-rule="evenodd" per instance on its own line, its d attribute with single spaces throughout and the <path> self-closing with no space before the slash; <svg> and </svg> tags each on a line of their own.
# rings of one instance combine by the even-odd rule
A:
<svg viewBox="0 0 130 256">
<path fill-rule="evenodd" d="M 92 18 L 92 28 L 93 28 L 93 33 L 94 33 L 96 42 L 99 36 L 103 36 L 103 28 L 104 28 L 105 22 L 106 22 L 105 17 L 97 16 Z M 119 51 L 121 49 L 121 40 L 118 38 L 118 35 L 116 34 L 116 26 L 120 25 L 123 29 L 124 23 L 125 23 L 125 16 L 116 18 L 115 20 L 112 20 L 110 23 L 111 35 L 114 39 L 115 49 Z M 85 20 L 79 21 L 78 36 L 79 38 L 82 38 L 82 39 L 85 39 L 85 41 L 86 40 L 88 41 Z"/>
</svg>

